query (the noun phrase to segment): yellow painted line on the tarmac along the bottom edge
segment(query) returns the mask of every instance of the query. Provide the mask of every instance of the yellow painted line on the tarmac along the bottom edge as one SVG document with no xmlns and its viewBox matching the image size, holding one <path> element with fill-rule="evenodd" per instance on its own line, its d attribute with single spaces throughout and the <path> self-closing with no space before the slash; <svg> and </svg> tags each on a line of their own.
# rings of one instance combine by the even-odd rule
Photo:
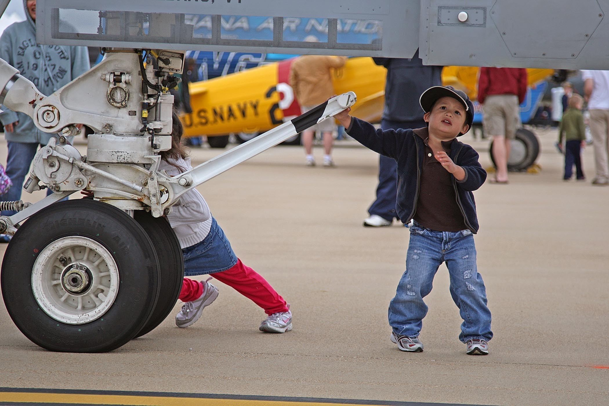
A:
<svg viewBox="0 0 609 406">
<path fill-rule="evenodd" d="M 205 397 L 123 396 L 71 393 L 0 392 L 0 402 L 29 402 L 48 404 L 137 405 L 137 406 L 336 406 L 336 403 L 251 401 L 245 399 L 208 399 Z M 348 404 L 341 404 L 347 405 Z M 353 405 L 355 406 L 355 405 Z M 372 406 L 361 405 L 357 406 Z"/>
</svg>

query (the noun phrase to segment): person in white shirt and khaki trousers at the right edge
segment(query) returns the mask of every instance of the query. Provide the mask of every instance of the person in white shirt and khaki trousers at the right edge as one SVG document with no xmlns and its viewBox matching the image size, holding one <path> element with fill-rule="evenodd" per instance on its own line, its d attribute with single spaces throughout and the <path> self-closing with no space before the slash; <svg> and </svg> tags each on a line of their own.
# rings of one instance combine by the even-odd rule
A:
<svg viewBox="0 0 609 406">
<path fill-rule="evenodd" d="M 582 71 L 583 94 L 590 111 L 596 175 L 592 184 L 609 185 L 609 72 Z"/>
</svg>

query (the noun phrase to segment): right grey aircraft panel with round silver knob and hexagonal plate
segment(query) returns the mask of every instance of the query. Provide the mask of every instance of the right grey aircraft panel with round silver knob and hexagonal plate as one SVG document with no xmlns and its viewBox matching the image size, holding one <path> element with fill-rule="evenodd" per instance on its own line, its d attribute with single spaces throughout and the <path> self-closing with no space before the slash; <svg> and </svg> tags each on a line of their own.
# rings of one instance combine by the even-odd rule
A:
<svg viewBox="0 0 609 406">
<path fill-rule="evenodd" d="M 609 69 L 607 10 L 609 0 L 422 0 L 420 55 L 427 65 Z"/>
</svg>

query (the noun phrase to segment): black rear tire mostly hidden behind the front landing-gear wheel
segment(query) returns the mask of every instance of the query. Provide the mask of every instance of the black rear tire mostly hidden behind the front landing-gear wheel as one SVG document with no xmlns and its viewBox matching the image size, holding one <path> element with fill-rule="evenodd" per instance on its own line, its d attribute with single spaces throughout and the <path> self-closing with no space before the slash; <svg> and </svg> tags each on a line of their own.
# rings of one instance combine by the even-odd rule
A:
<svg viewBox="0 0 609 406">
<path fill-rule="evenodd" d="M 152 217 L 150 212 L 138 210 L 133 216 L 152 240 L 157 250 L 158 263 L 161 268 L 161 292 L 158 296 L 150 320 L 135 337 L 141 337 L 155 329 L 174 308 L 182 289 L 184 278 L 184 257 L 174 229 L 163 217 Z"/>
</svg>

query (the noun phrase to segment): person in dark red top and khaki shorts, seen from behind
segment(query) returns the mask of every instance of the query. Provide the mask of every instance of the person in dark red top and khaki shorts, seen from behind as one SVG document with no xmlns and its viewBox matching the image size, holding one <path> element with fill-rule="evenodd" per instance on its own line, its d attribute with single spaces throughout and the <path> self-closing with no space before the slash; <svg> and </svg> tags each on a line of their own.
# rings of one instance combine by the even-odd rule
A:
<svg viewBox="0 0 609 406">
<path fill-rule="evenodd" d="M 497 173 L 493 183 L 507 183 L 510 142 L 521 125 L 520 103 L 527 94 L 527 71 L 521 68 L 481 68 L 478 101 L 483 105 L 484 132 L 493 137 Z M 491 181 L 492 182 L 492 181 Z"/>
</svg>

